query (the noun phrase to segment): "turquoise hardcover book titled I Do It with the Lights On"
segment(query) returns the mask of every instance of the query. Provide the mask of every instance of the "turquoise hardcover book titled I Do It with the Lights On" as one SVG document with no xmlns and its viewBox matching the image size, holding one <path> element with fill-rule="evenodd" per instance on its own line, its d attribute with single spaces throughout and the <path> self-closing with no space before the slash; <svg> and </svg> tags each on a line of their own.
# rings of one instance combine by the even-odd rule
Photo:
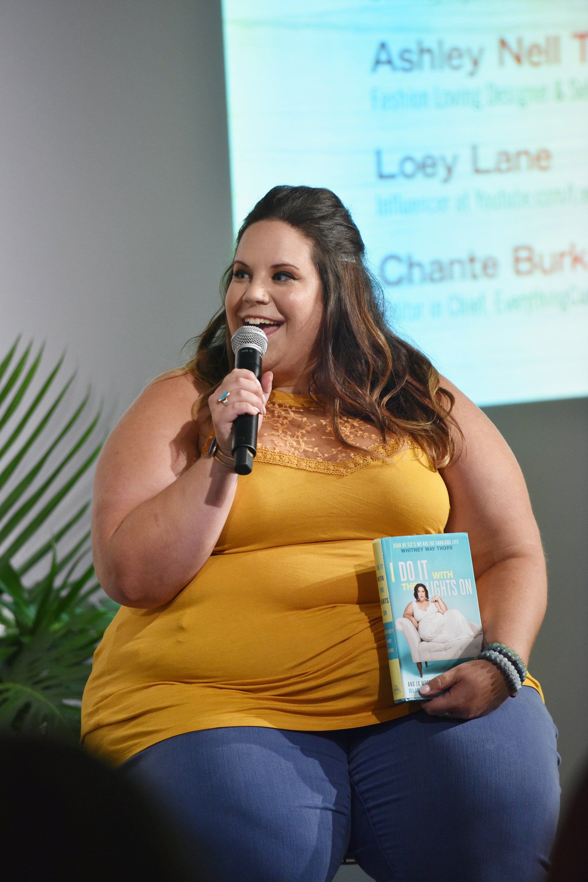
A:
<svg viewBox="0 0 588 882">
<path fill-rule="evenodd" d="M 394 701 L 480 653 L 482 629 L 467 533 L 372 543 Z"/>
</svg>

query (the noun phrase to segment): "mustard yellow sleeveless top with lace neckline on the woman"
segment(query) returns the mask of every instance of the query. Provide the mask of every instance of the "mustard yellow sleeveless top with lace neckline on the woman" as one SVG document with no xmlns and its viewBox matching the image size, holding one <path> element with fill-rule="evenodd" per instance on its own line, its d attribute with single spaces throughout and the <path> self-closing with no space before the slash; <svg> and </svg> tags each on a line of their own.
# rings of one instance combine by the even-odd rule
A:
<svg viewBox="0 0 588 882">
<path fill-rule="evenodd" d="M 416 445 L 341 428 L 376 457 L 340 445 L 308 398 L 272 392 L 211 557 L 174 600 L 108 627 L 86 747 L 123 762 L 197 729 L 347 729 L 418 709 L 392 699 L 371 542 L 443 533 L 449 497 Z"/>
</svg>

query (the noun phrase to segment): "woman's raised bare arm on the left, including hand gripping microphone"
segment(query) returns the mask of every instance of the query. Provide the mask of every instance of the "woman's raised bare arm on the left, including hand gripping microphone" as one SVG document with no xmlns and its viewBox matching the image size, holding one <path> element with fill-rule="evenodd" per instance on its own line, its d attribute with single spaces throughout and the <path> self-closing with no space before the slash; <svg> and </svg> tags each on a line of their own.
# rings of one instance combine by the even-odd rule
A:
<svg viewBox="0 0 588 882">
<path fill-rule="evenodd" d="M 232 405 L 217 407 L 214 428 L 206 427 L 218 431 L 225 449 L 236 413 L 257 412 L 250 401 L 261 392 L 247 391 L 245 373 L 233 371 L 223 381 L 234 392 Z M 245 389 L 241 401 L 237 387 Z M 237 476 L 218 460 L 198 455 L 203 438 L 191 416 L 196 400 L 188 375 L 155 381 L 100 455 L 93 559 L 106 593 L 125 606 L 149 609 L 175 597 L 212 553 L 233 503 Z"/>
</svg>

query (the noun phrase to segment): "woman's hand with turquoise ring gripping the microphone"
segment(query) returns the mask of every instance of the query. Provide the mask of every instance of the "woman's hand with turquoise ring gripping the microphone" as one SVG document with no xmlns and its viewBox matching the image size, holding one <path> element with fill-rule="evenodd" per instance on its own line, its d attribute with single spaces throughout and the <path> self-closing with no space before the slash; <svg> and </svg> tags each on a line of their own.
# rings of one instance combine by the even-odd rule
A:
<svg viewBox="0 0 588 882">
<path fill-rule="evenodd" d="M 212 392 L 208 406 L 212 417 L 212 429 L 217 439 L 220 451 L 226 456 L 232 456 L 231 435 L 233 422 L 242 414 L 259 414 L 261 426 L 265 413 L 265 403 L 272 392 L 273 374 L 266 370 L 262 374 L 261 382 L 250 370 L 231 370 L 224 378 L 219 388 Z M 226 394 L 228 392 L 228 394 Z M 224 399 L 223 399 L 223 396 Z M 223 400 L 219 400 L 223 399 Z"/>
</svg>

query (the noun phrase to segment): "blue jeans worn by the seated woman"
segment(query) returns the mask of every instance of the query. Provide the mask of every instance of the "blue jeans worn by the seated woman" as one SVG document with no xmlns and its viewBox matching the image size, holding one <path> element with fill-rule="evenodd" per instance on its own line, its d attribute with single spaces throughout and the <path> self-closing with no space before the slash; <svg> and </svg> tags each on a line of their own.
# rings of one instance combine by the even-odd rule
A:
<svg viewBox="0 0 588 882">
<path fill-rule="evenodd" d="M 205 729 L 122 768 L 175 812 L 214 882 L 537 882 L 559 805 L 556 730 L 525 686 L 488 716 L 328 732 Z"/>
</svg>

